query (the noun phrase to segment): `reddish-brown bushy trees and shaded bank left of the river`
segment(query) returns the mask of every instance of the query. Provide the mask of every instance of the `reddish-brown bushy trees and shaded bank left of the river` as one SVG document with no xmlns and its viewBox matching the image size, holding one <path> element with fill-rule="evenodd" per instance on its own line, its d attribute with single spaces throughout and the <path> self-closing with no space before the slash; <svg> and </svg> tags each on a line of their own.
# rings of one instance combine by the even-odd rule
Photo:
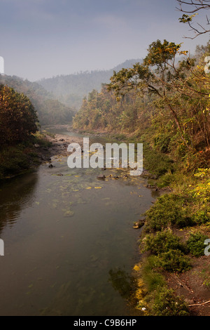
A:
<svg viewBox="0 0 210 330">
<path fill-rule="evenodd" d="M 38 132 L 38 117 L 31 100 L 0 85 L 0 180 L 20 175 L 40 164 L 37 146 L 48 147 Z"/>
</svg>

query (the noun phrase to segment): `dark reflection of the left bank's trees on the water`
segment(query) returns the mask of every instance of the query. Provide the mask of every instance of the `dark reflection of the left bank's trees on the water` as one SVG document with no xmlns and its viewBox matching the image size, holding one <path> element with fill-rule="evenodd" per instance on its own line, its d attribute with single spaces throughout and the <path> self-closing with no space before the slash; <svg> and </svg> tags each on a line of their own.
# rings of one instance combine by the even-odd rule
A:
<svg viewBox="0 0 210 330">
<path fill-rule="evenodd" d="M 13 226 L 22 209 L 30 206 L 37 181 L 37 173 L 29 173 L 1 185 L 0 234 L 6 225 Z"/>
</svg>

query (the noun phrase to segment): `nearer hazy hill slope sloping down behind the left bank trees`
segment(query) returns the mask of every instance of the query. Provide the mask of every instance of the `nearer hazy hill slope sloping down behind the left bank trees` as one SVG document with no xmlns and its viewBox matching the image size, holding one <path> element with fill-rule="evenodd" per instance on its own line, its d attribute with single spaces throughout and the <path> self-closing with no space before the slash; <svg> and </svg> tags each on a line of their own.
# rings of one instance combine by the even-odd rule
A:
<svg viewBox="0 0 210 330">
<path fill-rule="evenodd" d="M 57 100 L 40 84 L 21 79 L 19 77 L 0 74 L 0 84 L 12 87 L 18 93 L 23 93 L 31 100 L 37 113 L 40 124 L 68 124 L 75 112 Z"/>
</svg>

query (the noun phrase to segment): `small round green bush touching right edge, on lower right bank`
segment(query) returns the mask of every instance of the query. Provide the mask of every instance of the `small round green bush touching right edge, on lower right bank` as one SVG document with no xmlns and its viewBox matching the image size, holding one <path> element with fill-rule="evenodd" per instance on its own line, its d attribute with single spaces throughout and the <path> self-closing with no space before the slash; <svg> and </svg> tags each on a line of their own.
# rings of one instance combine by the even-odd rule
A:
<svg viewBox="0 0 210 330">
<path fill-rule="evenodd" d="M 191 233 L 187 241 L 190 253 L 196 257 L 204 256 L 204 242 L 208 238 L 208 236 L 203 235 L 201 232 Z"/>
</svg>

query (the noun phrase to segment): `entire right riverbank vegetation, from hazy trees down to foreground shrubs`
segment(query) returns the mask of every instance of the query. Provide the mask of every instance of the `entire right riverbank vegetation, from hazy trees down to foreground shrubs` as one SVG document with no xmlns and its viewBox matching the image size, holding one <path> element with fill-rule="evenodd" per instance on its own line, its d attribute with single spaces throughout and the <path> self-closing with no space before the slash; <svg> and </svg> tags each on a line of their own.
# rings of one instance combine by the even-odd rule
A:
<svg viewBox="0 0 210 330">
<path fill-rule="evenodd" d="M 154 41 L 141 64 L 113 72 L 109 85 L 89 93 L 73 119 L 77 130 L 144 143 L 148 184 L 161 192 L 144 215 L 139 247 L 145 258 L 134 266 L 137 308 L 146 315 L 202 315 L 205 295 L 196 282 L 210 276 L 204 256 L 210 238 L 209 54 L 209 43 L 191 57 L 181 44 Z M 189 274 L 193 293 L 182 290 L 181 297 L 169 278 L 186 283 Z M 202 286 L 208 293 L 209 282 Z"/>
</svg>

